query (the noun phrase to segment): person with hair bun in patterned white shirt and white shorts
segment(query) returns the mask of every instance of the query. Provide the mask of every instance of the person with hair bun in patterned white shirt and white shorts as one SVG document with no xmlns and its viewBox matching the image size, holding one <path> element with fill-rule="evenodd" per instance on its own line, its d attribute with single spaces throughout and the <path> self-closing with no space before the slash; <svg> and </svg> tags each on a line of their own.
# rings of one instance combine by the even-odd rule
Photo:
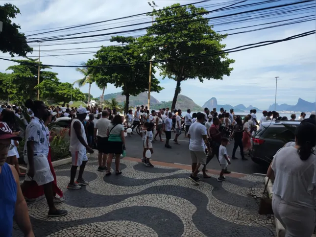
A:
<svg viewBox="0 0 316 237">
<path fill-rule="evenodd" d="M 49 142 L 48 133 L 43 119 L 47 116 L 48 110 L 43 101 L 28 99 L 25 106 L 34 113 L 34 118 L 26 127 L 24 161 L 27 163 L 26 176 L 21 186 L 26 192 L 33 183 L 43 186 L 44 194 L 49 206 L 49 217 L 66 215 L 66 210 L 58 210 L 54 204 L 53 181 L 49 167 L 48 154 Z"/>
</svg>

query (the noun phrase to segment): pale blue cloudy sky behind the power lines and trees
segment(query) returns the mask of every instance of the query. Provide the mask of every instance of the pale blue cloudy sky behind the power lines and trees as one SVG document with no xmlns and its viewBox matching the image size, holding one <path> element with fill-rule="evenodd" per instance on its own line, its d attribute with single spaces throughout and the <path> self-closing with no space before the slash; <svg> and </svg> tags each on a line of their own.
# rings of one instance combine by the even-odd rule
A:
<svg viewBox="0 0 316 237">
<path fill-rule="evenodd" d="M 213 3 L 221 3 L 225 0 L 213 0 L 210 2 L 198 3 L 196 6 L 209 5 Z M 259 0 L 258 0 L 259 1 Z M 293 0 L 281 0 L 277 3 L 265 4 L 264 6 L 285 4 Z M 25 35 L 38 33 L 43 31 L 29 32 L 33 30 L 47 29 L 53 27 L 62 27 L 76 24 L 86 24 L 91 22 L 105 21 L 114 18 L 134 15 L 151 11 L 147 0 L 0 0 L 0 4 L 10 2 L 20 8 L 21 15 L 18 15 L 14 22 L 21 25 L 21 32 Z M 194 0 L 155 0 L 158 8 L 169 6 L 173 3 L 187 4 L 196 2 Z M 246 3 L 254 2 L 249 0 Z M 245 4 L 245 3 L 243 3 Z M 235 13 L 239 11 L 251 10 L 257 7 L 249 7 L 247 9 L 237 9 L 226 11 L 225 14 Z M 207 8 L 208 10 L 215 9 Z M 218 16 L 221 13 L 213 13 Z M 306 15 L 315 15 L 314 13 L 306 13 Z M 268 22 L 280 21 L 289 18 L 300 17 L 291 16 L 277 19 L 257 20 L 248 23 L 238 23 L 229 25 L 215 25 L 214 30 L 227 30 L 231 28 L 243 27 L 253 24 L 263 24 Z M 210 17 L 210 15 L 208 15 Z M 113 27 L 115 25 L 133 24 L 134 22 L 125 22 L 134 20 L 135 23 L 140 21 L 150 21 L 149 16 L 141 16 L 138 18 L 124 19 L 105 23 L 109 25 L 98 26 L 94 28 L 87 28 L 84 30 L 101 29 L 102 27 Z M 111 25 L 110 25 L 111 24 Z M 145 27 L 146 25 L 135 26 Z M 237 34 L 227 36 L 223 40 L 226 48 L 238 47 L 246 44 L 257 43 L 267 40 L 284 39 L 292 35 L 303 33 L 310 30 L 315 30 L 315 21 L 305 22 L 300 24 L 292 24 L 287 26 L 275 27 L 260 31 Z M 234 33 L 248 29 L 255 29 L 264 26 L 257 26 L 253 28 L 237 29 L 232 31 L 224 31 L 222 33 Z M 103 29 L 103 28 L 102 28 Z M 119 30 L 128 30 L 132 27 L 124 27 Z M 118 29 L 109 30 L 107 32 L 115 32 Z M 77 32 L 69 31 L 66 33 Z M 102 32 L 102 31 L 101 31 Z M 56 32 L 49 36 L 64 34 L 65 32 Z M 90 34 L 97 34 L 90 33 Z M 133 32 L 130 35 L 140 34 Z M 83 34 L 84 35 L 84 34 Z M 128 35 L 128 34 L 127 34 Z M 38 37 L 38 36 L 33 36 Z M 48 43 L 47 43 L 48 44 Z M 59 46 L 43 46 L 41 50 L 49 49 L 63 49 L 76 47 L 97 47 L 100 45 L 109 45 L 108 41 L 99 43 L 80 43 L 75 45 L 59 45 Z M 38 44 L 32 44 L 34 51 L 29 56 L 38 55 Z M 91 51 L 95 49 L 82 49 Z M 97 49 L 96 49 L 97 50 Z M 42 51 L 41 56 L 66 54 L 71 50 L 49 52 Z M 75 50 L 73 50 L 75 52 Z M 56 57 L 41 57 L 43 64 L 50 65 L 78 65 L 89 58 L 93 58 L 92 54 L 56 56 Z M 309 102 L 316 99 L 316 44 L 315 34 L 292 41 L 281 42 L 278 44 L 248 49 L 240 52 L 233 52 L 229 54 L 229 58 L 236 60 L 231 65 L 234 70 L 230 76 L 224 76 L 223 80 L 204 80 L 203 83 L 198 79 L 191 79 L 182 82 L 181 94 L 189 96 L 194 102 L 200 106 L 204 104 L 211 97 L 216 97 L 219 104 L 244 104 L 258 107 L 260 109 L 267 109 L 269 105 L 275 100 L 275 76 L 278 76 L 277 84 L 277 103 L 287 103 L 290 105 L 296 104 L 298 98 L 302 98 Z M 0 53 L 0 57 L 9 56 L 8 54 Z M 12 62 L 1 61 L 0 71 L 4 72 L 6 68 L 13 65 Z M 75 71 L 74 68 L 53 68 L 52 71 L 58 73 L 58 78 L 62 82 L 73 83 L 77 79 L 81 79 L 82 75 Z M 156 77 L 160 79 L 161 86 L 165 89 L 160 93 L 152 93 L 159 101 L 172 100 L 176 82 L 171 79 L 162 79 L 159 71 Z M 84 93 L 88 92 L 88 86 L 81 87 L 80 90 Z M 120 92 L 120 88 L 115 88 L 113 85 L 108 85 L 105 94 Z M 92 85 L 91 94 L 95 97 L 101 95 L 101 90 L 96 85 Z"/>
</svg>

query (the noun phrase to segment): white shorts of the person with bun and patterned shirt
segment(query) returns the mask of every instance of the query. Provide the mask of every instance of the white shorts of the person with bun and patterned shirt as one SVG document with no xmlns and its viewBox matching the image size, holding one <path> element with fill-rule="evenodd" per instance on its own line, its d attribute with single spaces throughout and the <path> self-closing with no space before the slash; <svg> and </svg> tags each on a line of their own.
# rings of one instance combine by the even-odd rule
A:
<svg viewBox="0 0 316 237">
<path fill-rule="evenodd" d="M 54 181 L 54 177 L 50 172 L 49 161 L 45 154 L 34 157 L 34 176 L 29 177 L 27 172 L 29 164 L 27 164 L 25 181 L 35 181 L 38 186 L 48 184 Z"/>
</svg>

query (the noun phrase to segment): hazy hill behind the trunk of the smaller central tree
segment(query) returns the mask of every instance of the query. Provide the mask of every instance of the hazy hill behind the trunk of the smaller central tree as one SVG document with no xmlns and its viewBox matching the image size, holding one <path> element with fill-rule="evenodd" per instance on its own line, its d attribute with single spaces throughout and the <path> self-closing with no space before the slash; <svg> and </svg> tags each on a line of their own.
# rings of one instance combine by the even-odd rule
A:
<svg viewBox="0 0 316 237">
<path fill-rule="evenodd" d="M 112 93 L 104 95 L 105 100 L 111 100 L 111 98 L 116 98 L 119 103 L 123 103 L 126 100 L 126 96 L 122 95 L 122 92 Z M 146 92 L 143 92 L 137 96 L 129 96 L 129 106 L 137 106 L 137 105 L 146 105 L 148 103 L 148 95 Z M 150 106 L 159 104 L 160 102 L 150 95 Z"/>
</svg>

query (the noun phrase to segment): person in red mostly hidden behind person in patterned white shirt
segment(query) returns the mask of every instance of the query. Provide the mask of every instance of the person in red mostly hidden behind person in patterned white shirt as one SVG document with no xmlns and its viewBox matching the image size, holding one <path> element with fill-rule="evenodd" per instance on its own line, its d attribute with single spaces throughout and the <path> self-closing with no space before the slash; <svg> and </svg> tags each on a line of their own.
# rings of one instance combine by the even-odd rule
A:
<svg viewBox="0 0 316 237">
<path fill-rule="evenodd" d="M 49 128 L 47 127 L 48 124 L 51 122 L 51 117 L 52 117 L 51 113 L 48 112 L 46 115 L 43 116 L 43 121 L 44 121 L 44 124 L 45 124 L 45 128 L 46 128 L 46 131 L 47 131 L 47 136 L 48 136 L 48 141 L 49 141 L 49 154 L 48 154 L 49 168 L 50 168 L 51 174 L 54 177 L 54 181 L 53 181 L 53 184 L 52 184 L 53 194 L 54 194 L 54 197 L 53 197 L 54 198 L 54 203 L 60 203 L 60 202 L 64 201 L 64 199 L 63 199 L 63 195 L 64 194 L 63 194 L 62 190 L 60 190 L 58 188 L 58 186 L 57 186 L 55 170 L 54 170 L 54 167 L 52 166 L 52 163 L 51 163 L 50 142 L 53 140 L 53 138 L 55 136 L 55 133 L 50 132 L 50 134 L 49 134 Z M 56 197 L 56 194 L 59 196 L 59 198 Z M 44 195 L 43 186 L 38 186 L 36 183 L 33 183 L 32 186 L 28 190 L 24 191 L 23 195 L 25 197 L 25 200 L 33 201 L 34 199 Z"/>
</svg>

